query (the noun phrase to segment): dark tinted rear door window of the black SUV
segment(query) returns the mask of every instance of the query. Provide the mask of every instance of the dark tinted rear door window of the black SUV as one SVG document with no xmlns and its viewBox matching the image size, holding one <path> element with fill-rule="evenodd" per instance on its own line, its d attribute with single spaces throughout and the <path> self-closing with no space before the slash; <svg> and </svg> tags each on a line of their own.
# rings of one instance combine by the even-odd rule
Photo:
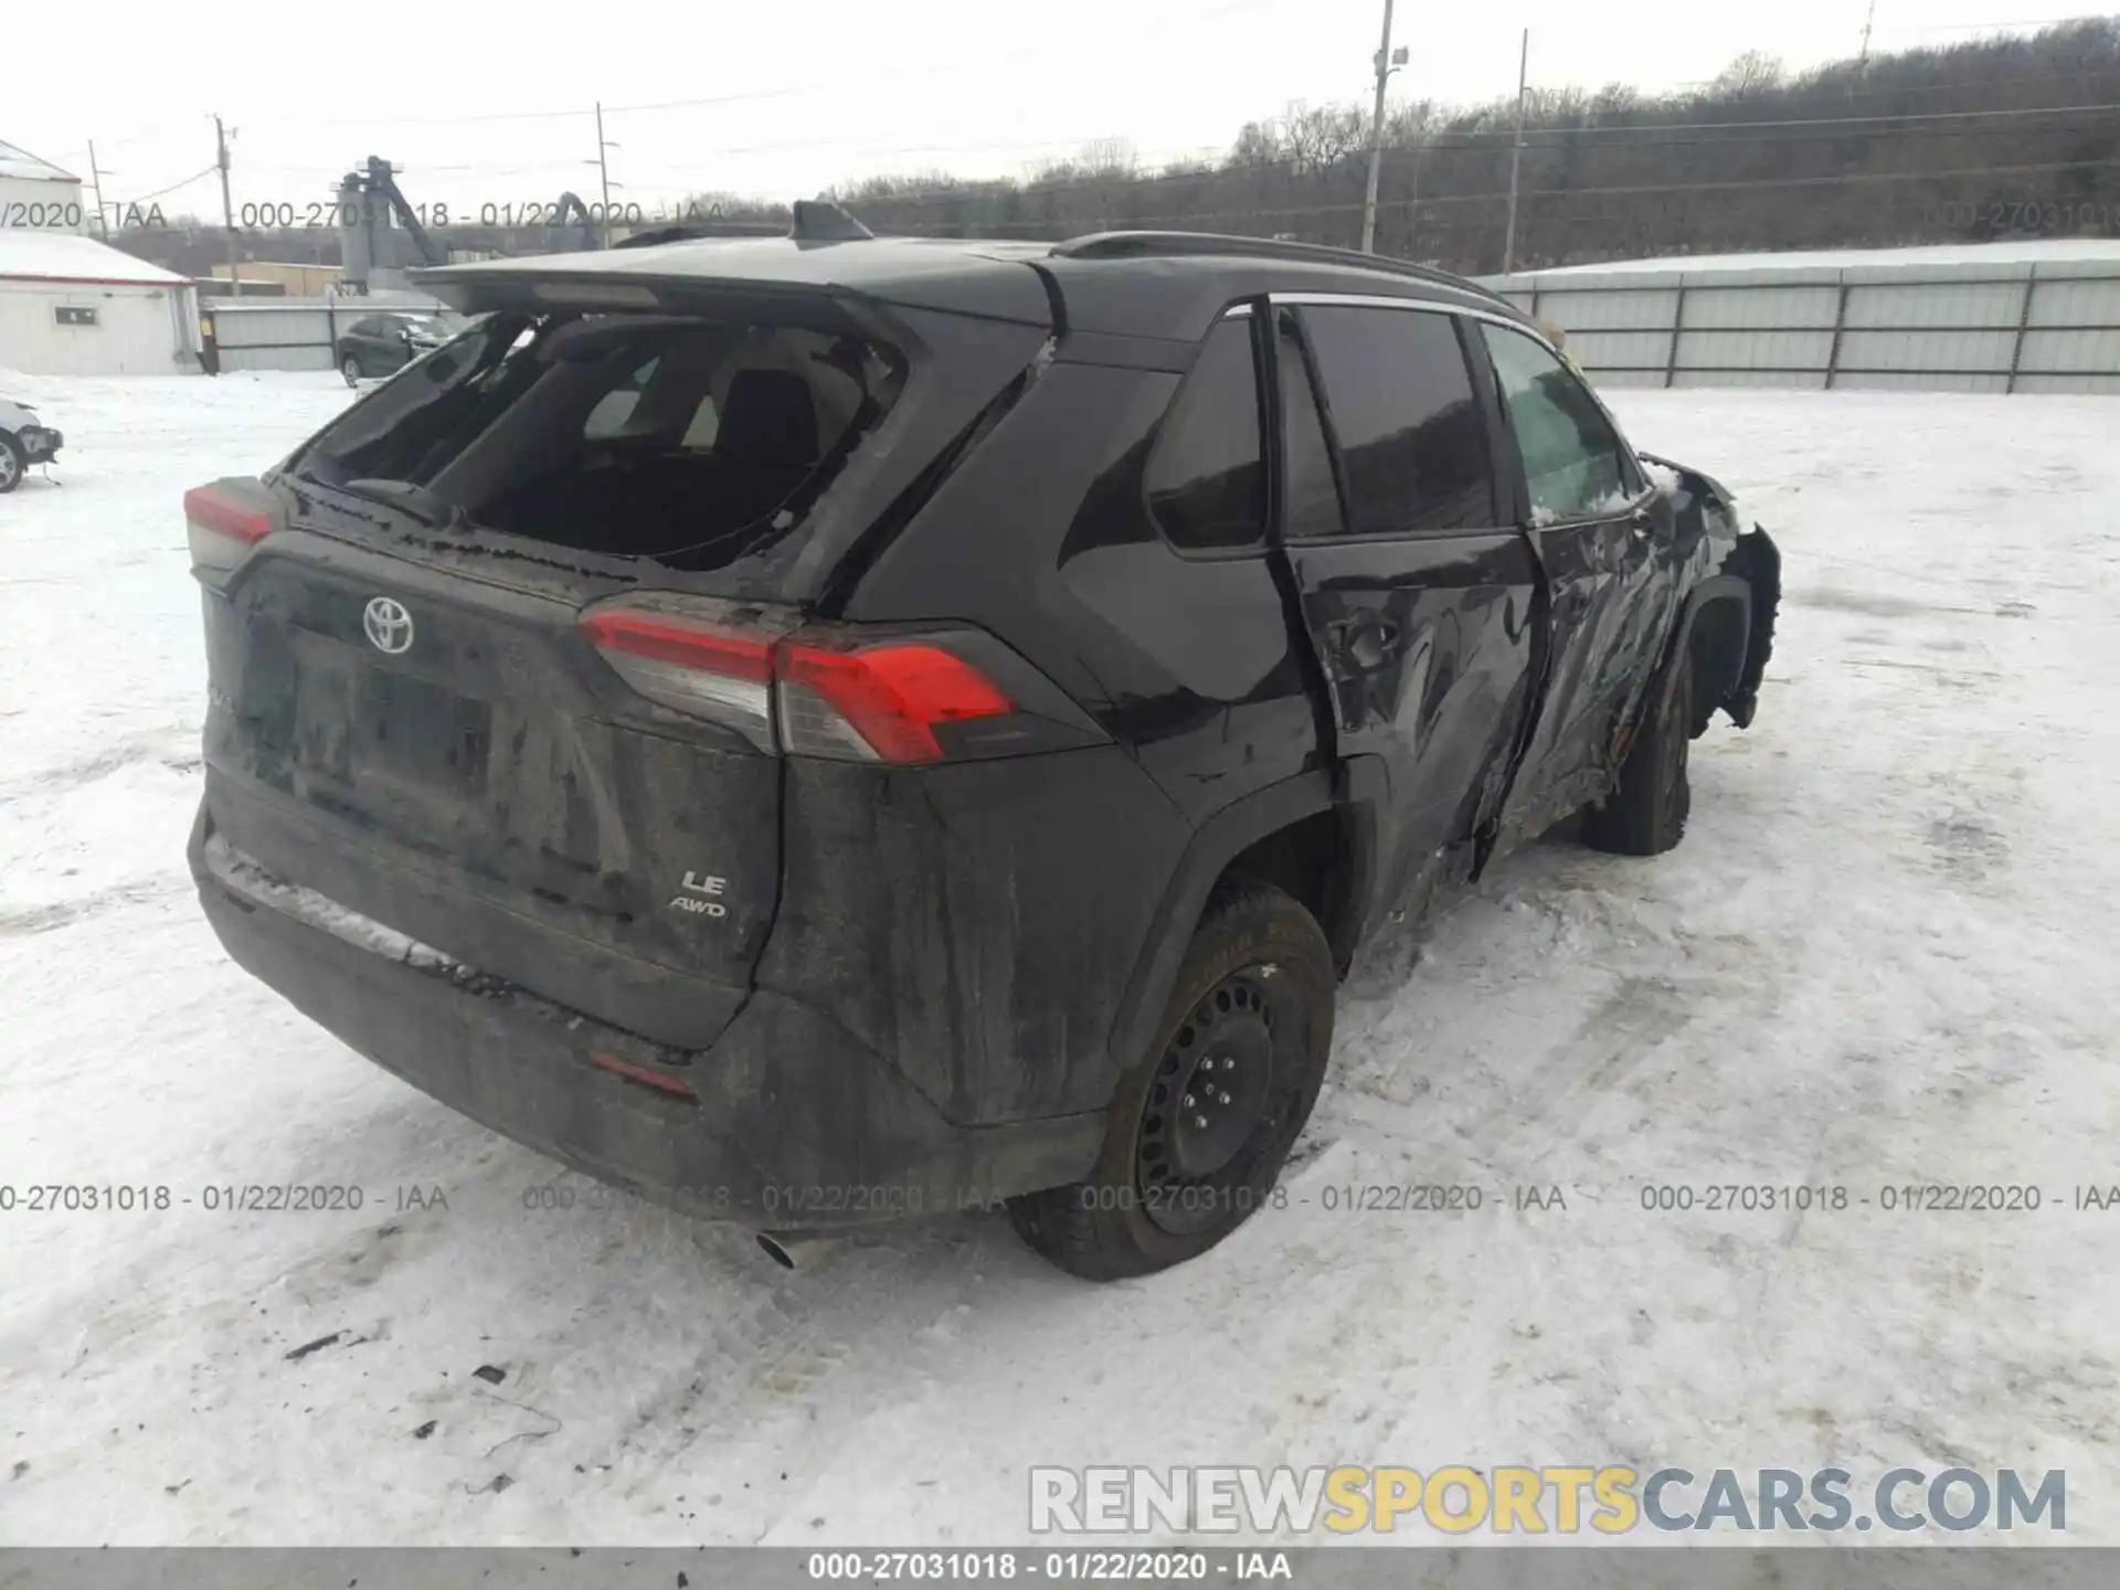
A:
<svg viewBox="0 0 2120 1590">
<path fill-rule="evenodd" d="M 1357 536 L 1495 524 L 1486 420 L 1452 318 L 1304 310 Z"/>
</svg>

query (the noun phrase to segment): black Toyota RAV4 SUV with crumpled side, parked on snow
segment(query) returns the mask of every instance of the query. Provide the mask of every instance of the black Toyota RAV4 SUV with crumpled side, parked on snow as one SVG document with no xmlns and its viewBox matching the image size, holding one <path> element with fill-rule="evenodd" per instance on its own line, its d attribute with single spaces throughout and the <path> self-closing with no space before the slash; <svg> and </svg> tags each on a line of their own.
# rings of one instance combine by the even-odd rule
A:
<svg viewBox="0 0 2120 1590">
<path fill-rule="evenodd" d="M 763 1234 L 1266 1202 L 1386 918 L 1753 712 L 1764 532 L 1505 301 L 1234 237 L 657 242 L 184 500 L 191 865 L 377 1064 Z"/>
</svg>

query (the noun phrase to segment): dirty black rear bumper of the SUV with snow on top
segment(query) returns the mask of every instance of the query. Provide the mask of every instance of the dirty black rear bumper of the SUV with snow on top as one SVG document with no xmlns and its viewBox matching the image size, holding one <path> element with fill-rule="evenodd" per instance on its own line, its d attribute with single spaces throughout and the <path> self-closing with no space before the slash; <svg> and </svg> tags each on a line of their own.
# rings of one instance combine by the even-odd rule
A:
<svg viewBox="0 0 2120 1590">
<path fill-rule="evenodd" d="M 191 871 L 240 967 L 413 1088 L 600 1181 L 708 1219 L 823 1230 L 986 1206 L 1088 1172 L 1102 1115 L 943 1119 L 844 1028 L 757 990 L 706 1049 L 670 1049 L 432 952 L 320 897 L 261 893 L 199 810 Z M 649 1073 L 664 1085 L 634 1077 Z M 668 1083 L 691 1090 L 691 1098 Z"/>
</svg>

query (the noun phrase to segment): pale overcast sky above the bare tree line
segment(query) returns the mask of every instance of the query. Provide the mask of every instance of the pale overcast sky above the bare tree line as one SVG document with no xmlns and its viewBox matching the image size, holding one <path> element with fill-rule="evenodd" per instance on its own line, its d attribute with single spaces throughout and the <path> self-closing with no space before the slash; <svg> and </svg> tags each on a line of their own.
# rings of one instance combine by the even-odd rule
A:
<svg viewBox="0 0 2120 1590">
<path fill-rule="evenodd" d="M 965 4 L 498 8 L 273 6 L 170 13 L 100 4 L 68 28 L 104 45 L 83 70 L 25 70 L 0 95 L 0 140 L 83 180 L 89 140 L 104 199 L 176 187 L 167 214 L 218 216 L 212 114 L 237 129 L 235 201 L 329 199 L 367 155 L 403 167 L 416 204 L 452 208 L 598 197 L 606 106 L 611 197 L 653 208 L 697 191 L 801 197 L 871 172 L 1022 174 L 1124 138 L 1143 163 L 1219 153 L 1289 102 L 1361 100 L 1382 0 L 1071 0 Z M 1948 45 L 2071 15 L 2052 0 L 1878 0 L 1874 49 Z M 227 19 L 223 19 L 227 17 Z M 1649 4 L 1399 0 L 1412 64 L 1395 98 L 1478 102 L 1516 87 L 1531 28 L 1541 85 L 1711 78 L 1745 49 L 1791 68 L 1853 55 L 1863 0 Z M 172 32 L 174 30 L 174 32 Z M 117 34 L 167 40 L 108 47 Z M 187 182 L 195 174 L 199 180 Z"/>
</svg>

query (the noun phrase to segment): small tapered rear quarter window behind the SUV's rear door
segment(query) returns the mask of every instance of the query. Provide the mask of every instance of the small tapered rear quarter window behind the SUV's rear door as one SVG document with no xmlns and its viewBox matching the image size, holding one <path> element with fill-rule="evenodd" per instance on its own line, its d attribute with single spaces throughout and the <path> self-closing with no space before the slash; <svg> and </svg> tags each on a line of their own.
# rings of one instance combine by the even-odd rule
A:
<svg viewBox="0 0 2120 1590">
<path fill-rule="evenodd" d="M 1149 458 L 1149 511 L 1181 547 L 1266 536 L 1266 462 L 1251 320 L 1221 320 L 1200 346 Z"/>
</svg>

